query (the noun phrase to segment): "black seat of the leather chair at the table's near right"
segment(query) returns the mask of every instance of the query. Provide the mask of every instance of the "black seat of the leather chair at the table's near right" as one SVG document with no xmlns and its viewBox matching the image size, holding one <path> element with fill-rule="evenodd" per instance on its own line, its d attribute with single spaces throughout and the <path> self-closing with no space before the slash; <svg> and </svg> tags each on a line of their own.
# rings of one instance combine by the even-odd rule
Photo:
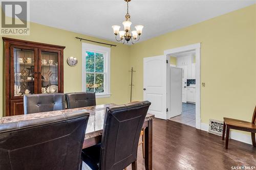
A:
<svg viewBox="0 0 256 170">
<path fill-rule="evenodd" d="M 99 169 L 100 144 L 82 150 L 81 159 L 87 168 L 92 170 Z M 88 168 L 88 169 L 90 169 Z"/>
</svg>

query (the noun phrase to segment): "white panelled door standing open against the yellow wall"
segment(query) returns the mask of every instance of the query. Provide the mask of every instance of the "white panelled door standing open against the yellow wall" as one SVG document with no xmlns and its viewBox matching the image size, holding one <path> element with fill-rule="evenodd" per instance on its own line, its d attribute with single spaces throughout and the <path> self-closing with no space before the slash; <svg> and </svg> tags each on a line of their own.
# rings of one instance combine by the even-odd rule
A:
<svg viewBox="0 0 256 170">
<path fill-rule="evenodd" d="M 161 119 L 167 118 L 167 65 L 165 56 L 143 59 L 143 99 L 151 102 L 148 113 Z"/>
</svg>

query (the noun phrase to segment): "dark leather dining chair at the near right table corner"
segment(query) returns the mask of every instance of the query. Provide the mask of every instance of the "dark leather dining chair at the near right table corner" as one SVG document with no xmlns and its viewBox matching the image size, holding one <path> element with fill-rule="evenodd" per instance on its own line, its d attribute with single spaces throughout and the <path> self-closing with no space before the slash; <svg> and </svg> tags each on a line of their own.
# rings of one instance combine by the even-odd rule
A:
<svg viewBox="0 0 256 170">
<path fill-rule="evenodd" d="M 140 132 L 150 105 L 144 101 L 106 108 L 101 143 L 82 150 L 85 166 L 121 170 L 132 163 L 137 169 Z"/>
</svg>

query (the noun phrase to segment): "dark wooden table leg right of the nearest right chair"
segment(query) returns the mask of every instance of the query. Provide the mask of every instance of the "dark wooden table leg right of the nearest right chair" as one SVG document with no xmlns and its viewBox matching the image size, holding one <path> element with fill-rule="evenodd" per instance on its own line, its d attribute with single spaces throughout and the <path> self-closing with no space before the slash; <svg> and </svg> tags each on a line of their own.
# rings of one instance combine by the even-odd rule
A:
<svg viewBox="0 0 256 170">
<path fill-rule="evenodd" d="M 148 126 L 145 128 L 145 168 L 152 170 L 152 119 L 148 120 Z"/>
</svg>

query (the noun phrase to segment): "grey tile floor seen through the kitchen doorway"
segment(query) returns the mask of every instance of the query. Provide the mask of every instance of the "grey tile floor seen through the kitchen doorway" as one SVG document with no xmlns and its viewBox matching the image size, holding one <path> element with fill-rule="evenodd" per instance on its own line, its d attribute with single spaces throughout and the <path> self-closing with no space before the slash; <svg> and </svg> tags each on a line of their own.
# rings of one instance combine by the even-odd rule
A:
<svg viewBox="0 0 256 170">
<path fill-rule="evenodd" d="M 196 104 L 182 103 L 181 115 L 172 117 L 169 120 L 196 127 Z"/>
</svg>

